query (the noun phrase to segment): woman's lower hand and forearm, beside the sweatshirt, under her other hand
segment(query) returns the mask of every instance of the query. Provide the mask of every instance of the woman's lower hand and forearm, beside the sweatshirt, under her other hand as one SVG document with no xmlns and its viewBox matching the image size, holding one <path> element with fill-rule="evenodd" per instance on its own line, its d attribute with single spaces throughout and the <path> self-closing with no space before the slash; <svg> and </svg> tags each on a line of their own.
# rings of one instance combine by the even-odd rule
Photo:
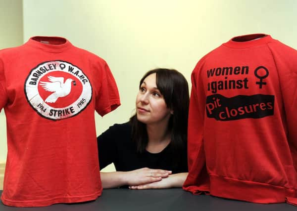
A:
<svg viewBox="0 0 297 211">
<path fill-rule="evenodd" d="M 161 189 L 161 188 L 173 188 L 173 187 L 182 187 L 183 183 L 187 178 L 188 173 L 176 173 L 171 174 L 162 180 L 142 184 L 142 185 L 134 185 L 129 186 L 130 189 L 133 190 L 143 190 L 143 189 Z"/>
</svg>

